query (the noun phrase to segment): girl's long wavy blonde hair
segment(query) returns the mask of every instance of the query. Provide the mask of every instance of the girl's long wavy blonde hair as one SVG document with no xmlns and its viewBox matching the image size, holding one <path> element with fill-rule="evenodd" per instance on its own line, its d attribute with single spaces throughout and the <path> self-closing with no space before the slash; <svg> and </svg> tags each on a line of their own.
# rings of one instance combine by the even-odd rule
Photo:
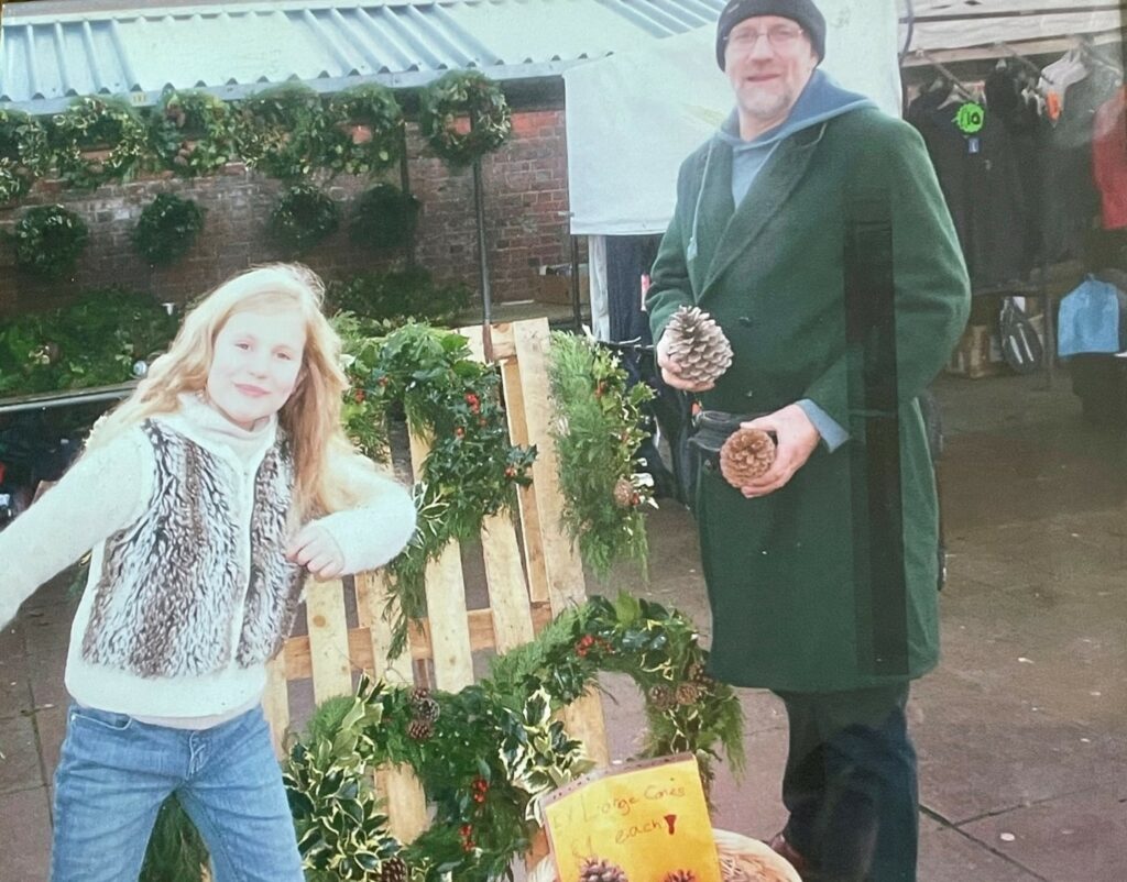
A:
<svg viewBox="0 0 1127 882">
<path fill-rule="evenodd" d="M 340 398 L 348 385 L 339 366 L 340 338 L 321 313 L 325 286 L 300 264 L 255 267 L 224 282 L 193 309 L 168 351 L 153 360 L 136 391 L 95 427 L 87 444 L 98 447 L 127 428 L 179 407 L 177 395 L 205 392 L 215 337 L 228 319 L 251 310 L 298 310 L 305 348 L 293 394 L 278 411 L 289 435 L 302 520 L 354 504 L 341 464 L 355 454 L 340 427 Z"/>
</svg>

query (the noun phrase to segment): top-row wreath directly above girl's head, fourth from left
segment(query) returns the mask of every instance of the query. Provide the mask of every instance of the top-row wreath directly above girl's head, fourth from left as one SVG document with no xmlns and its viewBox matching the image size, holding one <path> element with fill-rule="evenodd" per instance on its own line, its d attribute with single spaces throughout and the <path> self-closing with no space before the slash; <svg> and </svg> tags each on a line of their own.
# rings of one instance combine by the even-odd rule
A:
<svg viewBox="0 0 1127 882">
<path fill-rule="evenodd" d="M 234 137 L 248 168 L 293 180 L 318 164 L 316 142 L 325 124 L 321 99 L 308 86 L 278 86 L 239 101 Z"/>
</svg>

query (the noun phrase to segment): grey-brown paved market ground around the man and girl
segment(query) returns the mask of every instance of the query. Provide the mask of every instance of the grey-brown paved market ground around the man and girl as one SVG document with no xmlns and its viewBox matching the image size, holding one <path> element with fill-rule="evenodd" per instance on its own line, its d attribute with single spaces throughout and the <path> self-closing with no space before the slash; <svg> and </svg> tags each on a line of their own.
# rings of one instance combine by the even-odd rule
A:
<svg viewBox="0 0 1127 882">
<path fill-rule="evenodd" d="M 943 380 L 951 551 L 944 660 L 914 689 L 921 882 L 1127 880 L 1127 470 L 1125 445 L 1086 427 L 1067 382 Z M 629 587 L 708 617 L 687 514 L 650 519 L 651 580 Z M 0 634 L 0 882 L 46 876 L 48 784 L 63 729 L 71 605 L 39 591 Z M 639 698 L 611 683 L 618 755 Z M 748 770 L 721 770 L 716 825 L 782 822 L 780 707 L 745 692 Z"/>
</svg>

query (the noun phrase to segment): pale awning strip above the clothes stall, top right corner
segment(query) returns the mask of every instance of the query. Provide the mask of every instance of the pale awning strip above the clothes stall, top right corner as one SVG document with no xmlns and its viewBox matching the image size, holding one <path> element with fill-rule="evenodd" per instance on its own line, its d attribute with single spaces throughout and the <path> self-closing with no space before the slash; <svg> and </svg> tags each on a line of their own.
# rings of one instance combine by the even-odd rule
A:
<svg viewBox="0 0 1127 882">
<path fill-rule="evenodd" d="M 1122 0 L 898 0 L 898 7 L 915 17 L 911 50 L 1100 34 L 1125 21 Z"/>
</svg>

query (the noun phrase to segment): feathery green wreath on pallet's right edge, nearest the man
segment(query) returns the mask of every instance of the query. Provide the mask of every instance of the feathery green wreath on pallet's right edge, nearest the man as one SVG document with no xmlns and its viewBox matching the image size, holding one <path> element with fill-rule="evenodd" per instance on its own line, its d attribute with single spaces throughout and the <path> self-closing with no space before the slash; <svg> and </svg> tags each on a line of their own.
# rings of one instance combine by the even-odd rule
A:
<svg viewBox="0 0 1127 882">
<path fill-rule="evenodd" d="M 653 481 L 636 471 L 641 404 L 654 397 L 644 383 L 627 387 L 616 355 L 594 340 L 553 331 L 548 378 L 556 412 L 557 470 L 564 526 L 594 573 L 618 559 L 646 565 L 641 505 L 655 505 Z"/>
</svg>

